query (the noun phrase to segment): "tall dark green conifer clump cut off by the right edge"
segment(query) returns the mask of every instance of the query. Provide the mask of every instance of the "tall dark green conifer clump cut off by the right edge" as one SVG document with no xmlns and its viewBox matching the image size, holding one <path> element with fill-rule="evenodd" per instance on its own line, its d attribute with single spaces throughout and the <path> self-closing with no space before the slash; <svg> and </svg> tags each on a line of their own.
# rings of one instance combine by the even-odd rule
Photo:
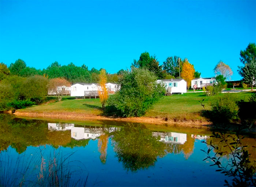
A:
<svg viewBox="0 0 256 187">
<path fill-rule="evenodd" d="M 251 86 L 256 82 L 256 45 L 255 43 L 249 43 L 248 47 L 244 51 L 240 51 L 240 61 L 244 64 L 244 67 L 239 67 L 238 73 L 243 77 L 243 81 Z"/>
</svg>

